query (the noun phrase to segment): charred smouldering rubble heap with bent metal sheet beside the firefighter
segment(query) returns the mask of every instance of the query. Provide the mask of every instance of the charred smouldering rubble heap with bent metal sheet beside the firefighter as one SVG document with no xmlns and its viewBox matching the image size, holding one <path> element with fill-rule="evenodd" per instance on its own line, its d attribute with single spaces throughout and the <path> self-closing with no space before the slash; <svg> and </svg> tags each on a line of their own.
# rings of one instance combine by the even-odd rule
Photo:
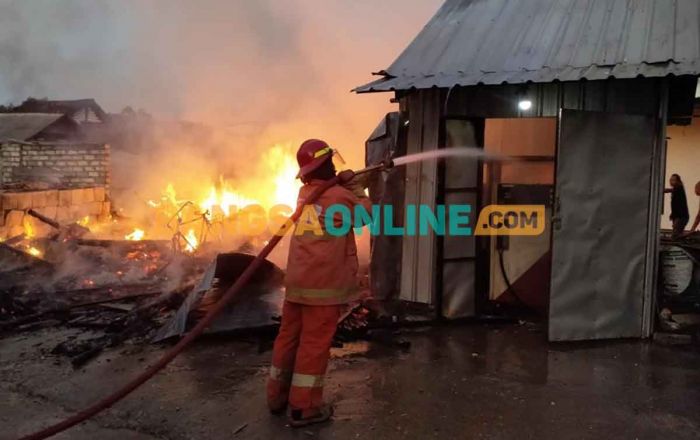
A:
<svg viewBox="0 0 700 440">
<path fill-rule="evenodd" d="M 253 259 L 248 253 L 217 255 L 206 249 L 193 255 L 169 241 L 84 238 L 90 230 L 78 223 L 63 225 L 31 209 L 26 215 L 52 232 L 43 238 L 20 234 L 0 243 L 0 338 L 57 326 L 85 330 L 89 336 L 66 339 L 50 350 L 76 368 L 126 341 L 143 344 L 181 336 Z M 283 276 L 266 261 L 209 331 L 265 330 L 260 334 L 274 336 Z M 391 332 L 370 330 L 373 316 L 362 302 L 349 307 L 339 322 L 336 345 L 356 339 L 388 341 Z"/>
</svg>

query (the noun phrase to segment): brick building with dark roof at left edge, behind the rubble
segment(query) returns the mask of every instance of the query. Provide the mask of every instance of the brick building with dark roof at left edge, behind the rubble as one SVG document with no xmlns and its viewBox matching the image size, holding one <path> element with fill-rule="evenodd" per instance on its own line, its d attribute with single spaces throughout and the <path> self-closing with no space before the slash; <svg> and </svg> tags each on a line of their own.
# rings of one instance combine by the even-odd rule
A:
<svg viewBox="0 0 700 440">
<path fill-rule="evenodd" d="M 0 113 L 0 238 L 109 216 L 109 145 L 87 141 L 106 114 L 93 100 L 28 99 Z"/>
</svg>

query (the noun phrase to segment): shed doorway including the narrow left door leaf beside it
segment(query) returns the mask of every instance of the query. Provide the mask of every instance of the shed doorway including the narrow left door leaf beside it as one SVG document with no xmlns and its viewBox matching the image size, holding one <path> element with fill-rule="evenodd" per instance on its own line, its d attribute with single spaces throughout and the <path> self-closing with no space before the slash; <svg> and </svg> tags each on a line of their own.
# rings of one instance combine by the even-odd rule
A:
<svg viewBox="0 0 700 440">
<path fill-rule="evenodd" d="M 438 307 L 455 319 L 494 307 L 547 316 L 557 118 L 446 118 L 445 148 L 480 147 L 507 162 L 451 159 L 440 165 L 438 203 L 469 204 L 473 222 L 489 205 L 544 205 L 538 236 L 440 237 Z M 475 225 L 476 226 L 476 225 Z"/>
</svg>

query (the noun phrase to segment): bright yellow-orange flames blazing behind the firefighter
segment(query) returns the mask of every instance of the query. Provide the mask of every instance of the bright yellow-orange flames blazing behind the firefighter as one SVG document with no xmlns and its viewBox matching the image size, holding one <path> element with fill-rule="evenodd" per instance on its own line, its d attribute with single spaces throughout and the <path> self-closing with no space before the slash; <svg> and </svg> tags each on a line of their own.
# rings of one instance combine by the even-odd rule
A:
<svg viewBox="0 0 700 440">
<path fill-rule="evenodd" d="M 236 237 L 251 243 L 251 237 L 243 237 L 235 226 L 242 218 L 241 210 L 250 205 L 266 211 L 277 205 L 296 205 L 301 182 L 296 179 L 294 149 L 290 145 L 275 145 L 264 151 L 257 162 L 241 163 L 240 169 L 232 171 L 235 178 L 212 179 L 213 176 L 192 174 L 183 179 L 183 175 L 176 174 L 171 183 L 156 191 L 159 194 L 145 198 L 143 212 L 134 215 L 126 211 L 121 219 L 101 221 L 86 216 L 75 223 L 90 229 L 96 238 L 169 240 L 174 250 L 190 254 L 213 241 L 224 248 Z M 28 217 L 23 227 L 25 239 L 31 243 L 25 251 L 43 256 L 43 251 L 34 247 L 37 231 Z"/>
</svg>

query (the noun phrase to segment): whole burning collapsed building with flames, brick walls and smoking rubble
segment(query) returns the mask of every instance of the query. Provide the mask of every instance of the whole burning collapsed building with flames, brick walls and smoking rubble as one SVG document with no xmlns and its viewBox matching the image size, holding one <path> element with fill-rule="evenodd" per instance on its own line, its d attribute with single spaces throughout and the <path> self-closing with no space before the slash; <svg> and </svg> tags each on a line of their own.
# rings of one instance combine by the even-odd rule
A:
<svg viewBox="0 0 700 440">
<path fill-rule="evenodd" d="M 283 145 L 247 170 L 264 175 L 265 184 L 259 179 L 240 188 L 205 157 L 234 141 L 204 124 L 156 121 L 128 108 L 108 115 L 91 99 L 30 98 L 5 110 L 0 330 L 56 316 L 70 326 L 103 329 L 56 347 L 74 365 L 126 339 L 150 339 L 163 324 L 158 338 L 184 331 L 252 259 L 230 251 L 253 252 L 268 239 L 266 230 L 241 232 L 241 219 L 258 218 L 246 207 L 296 199 L 296 163 Z M 199 158 L 200 166 L 185 170 L 182 158 Z M 137 165 L 146 165 L 140 174 L 133 173 Z M 237 303 L 215 323 L 217 331 L 275 324 L 282 272 L 271 262 L 265 267 L 257 287 L 249 286 L 252 301 Z"/>
</svg>

